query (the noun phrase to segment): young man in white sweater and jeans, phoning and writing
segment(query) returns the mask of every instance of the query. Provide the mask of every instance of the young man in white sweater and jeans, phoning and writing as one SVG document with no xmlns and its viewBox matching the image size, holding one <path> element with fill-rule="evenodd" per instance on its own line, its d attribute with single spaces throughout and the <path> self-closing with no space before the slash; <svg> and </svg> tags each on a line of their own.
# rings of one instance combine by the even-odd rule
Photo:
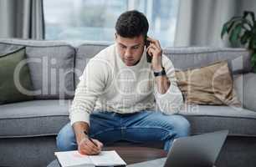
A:
<svg viewBox="0 0 256 167">
<path fill-rule="evenodd" d="M 146 17 L 122 13 L 115 30 L 115 44 L 90 59 L 80 77 L 70 123 L 57 137 L 59 150 L 98 154 L 102 143 L 127 140 L 161 141 L 168 151 L 173 139 L 189 134 L 187 119 L 177 115 L 183 99 L 172 62 L 157 40 L 146 38 Z"/>
</svg>

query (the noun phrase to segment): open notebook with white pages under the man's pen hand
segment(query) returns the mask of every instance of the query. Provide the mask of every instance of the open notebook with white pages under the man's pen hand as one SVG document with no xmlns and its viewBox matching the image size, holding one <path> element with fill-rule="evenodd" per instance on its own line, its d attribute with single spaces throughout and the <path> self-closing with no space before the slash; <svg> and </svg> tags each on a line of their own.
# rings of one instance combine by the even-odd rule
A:
<svg viewBox="0 0 256 167">
<path fill-rule="evenodd" d="M 101 151 L 98 155 L 79 154 L 77 150 L 54 153 L 62 167 L 94 167 L 94 166 L 125 166 L 119 154 L 112 151 Z"/>
</svg>

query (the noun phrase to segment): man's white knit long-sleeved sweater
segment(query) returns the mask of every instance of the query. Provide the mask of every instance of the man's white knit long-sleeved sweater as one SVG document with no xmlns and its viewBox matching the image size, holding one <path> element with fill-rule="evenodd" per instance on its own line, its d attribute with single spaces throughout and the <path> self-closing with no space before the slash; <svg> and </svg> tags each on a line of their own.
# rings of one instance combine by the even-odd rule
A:
<svg viewBox="0 0 256 167">
<path fill-rule="evenodd" d="M 156 110 L 158 104 L 165 114 L 177 113 L 183 104 L 182 93 L 177 87 L 172 62 L 165 55 L 162 55 L 162 65 L 171 81 L 166 94 L 157 92 L 146 53 L 135 66 L 126 66 L 116 44 L 105 48 L 90 59 L 79 78 L 69 109 L 71 124 L 78 121 L 90 124 L 90 113 L 94 110 L 127 114 L 144 109 Z"/>
</svg>

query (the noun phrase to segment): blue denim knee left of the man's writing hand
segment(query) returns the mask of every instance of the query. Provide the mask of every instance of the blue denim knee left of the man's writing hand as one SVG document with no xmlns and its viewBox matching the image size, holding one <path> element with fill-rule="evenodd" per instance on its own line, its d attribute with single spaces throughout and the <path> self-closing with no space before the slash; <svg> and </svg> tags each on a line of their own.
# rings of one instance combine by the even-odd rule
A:
<svg viewBox="0 0 256 167">
<path fill-rule="evenodd" d="M 74 131 L 70 124 L 66 124 L 60 129 L 56 138 L 56 144 L 59 151 L 69 151 L 77 149 L 75 142 Z"/>
</svg>

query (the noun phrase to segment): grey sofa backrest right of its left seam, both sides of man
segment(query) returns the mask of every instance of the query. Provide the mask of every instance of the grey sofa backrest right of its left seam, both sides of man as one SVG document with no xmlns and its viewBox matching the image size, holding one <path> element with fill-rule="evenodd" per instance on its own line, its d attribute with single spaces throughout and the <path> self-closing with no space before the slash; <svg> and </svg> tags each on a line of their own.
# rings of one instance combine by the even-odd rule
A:
<svg viewBox="0 0 256 167">
<path fill-rule="evenodd" d="M 83 43 L 77 48 L 75 58 L 75 86 L 79 83 L 79 76 L 83 73 L 86 63 L 100 50 L 110 43 Z M 221 60 L 228 60 L 233 74 L 248 73 L 252 70 L 250 54 L 245 48 L 164 48 L 163 53 L 172 60 L 176 69 L 187 69 L 206 66 Z"/>
</svg>

